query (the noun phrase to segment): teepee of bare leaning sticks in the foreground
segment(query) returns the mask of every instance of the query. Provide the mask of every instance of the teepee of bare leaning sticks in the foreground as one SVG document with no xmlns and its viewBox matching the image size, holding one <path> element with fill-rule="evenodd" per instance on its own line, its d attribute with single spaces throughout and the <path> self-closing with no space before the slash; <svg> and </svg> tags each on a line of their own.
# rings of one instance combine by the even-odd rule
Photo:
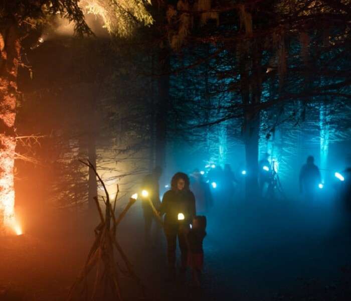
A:
<svg viewBox="0 0 351 301">
<path fill-rule="evenodd" d="M 90 248 L 88 253 L 88 257 L 85 261 L 85 265 L 72 285 L 68 301 L 74 298 L 74 293 L 77 291 L 78 287 L 83 283 L 83 292 L 81 295 L 85 295 L 86 299 L 91 300 L 100 300 L 101 294 L 105 296 L 106 291 L 110 291 L 112 296 L 116 298 L 116 300 L 122 300 L 121 296 L 121 287 L 120 287 L 120 276 L 121 274 L 125 276 L 131 277 L 140 287 L 143 297 L 146 296 L 145 286 L 142 285 L 139 277 L 134 273 L 133 266 L 127 258 L 125 252 L 117 241 L 116 231 L 117 226 L 120 224 L 122 219 L 125 217 L 126 213 L 130 209 L 130 207 L 135 203 L 135 199 L 130 198 L 128 204 L 121 212 L 121 214 L 116 218 L 115 216 L 115 208 L 118 196 L 118 185 L 117 185 L 117 193 L 114 198 L 113 205 L 111 204 L 109 194 L 107 192 L 106 186 L 102 181 L 101 177 L 98 175 L 95 167 L 91 164 L 90 161 L 84 162 L 80 161 L 87 167 L 91 168 L 96 177 L 98 178 L 100 184 L 102 185 L 105 194 L 106 200 L 104 202 L 106 204 L 105 208 L 105 216 L 102 213 L 102 209 L 100 207 L 99 201 L 97 197 L 94 198 L 95 204 L 100 217 L 100 224 L 95 228 L 95 241 Z M 122 270 L 120 263 L 115 258 L 115 255 L 119 254 L 122 259 L 125 269 Z M 88 291 L 88 275 L 92 272 L 93 269 L 96 269 L 94 283 L 92 286 L 91 293 Z M 104 298 L 103 296 L 103 298 Z"/>
</svg>

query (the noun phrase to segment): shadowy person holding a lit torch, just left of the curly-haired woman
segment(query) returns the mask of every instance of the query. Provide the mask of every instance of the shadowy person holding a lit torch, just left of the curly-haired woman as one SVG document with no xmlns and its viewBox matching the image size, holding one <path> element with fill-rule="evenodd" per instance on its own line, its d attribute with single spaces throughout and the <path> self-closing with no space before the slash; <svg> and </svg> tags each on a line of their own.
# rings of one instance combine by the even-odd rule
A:
<svg viewBox="0 0 351 301">
<path fill-rule="evenodd" d="M 152 174 L 145 176 L 142 181 L 141 189 L 148 192 L 149 198 L 155 206 L 156 210 L 160 208 L 161 201 L 159 199 L 159 178 L 161 177 L 162 170 L 160 167 L 156 167 Z M 146 200 L 141 202 L 143 216 L 144 216 L 144 231 L 145 231 L 145 243 L 149 245 L 151 243 L 151 226 L 154 220 L 156 226 L 156 236 L 158 235 L 160 226 L 157 223 L 155 216 L 149 203 Z"/>
</svg>

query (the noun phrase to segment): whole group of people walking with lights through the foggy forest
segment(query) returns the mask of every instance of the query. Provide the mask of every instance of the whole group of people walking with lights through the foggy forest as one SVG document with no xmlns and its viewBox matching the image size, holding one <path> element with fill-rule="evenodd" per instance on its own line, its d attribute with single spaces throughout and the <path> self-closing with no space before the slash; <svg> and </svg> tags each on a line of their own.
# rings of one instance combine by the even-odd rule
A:
<svg viewBox="0 0 351 301">
<path fill-rule="evenodd" d="M 271 185 L 272 174 L 269 171 L 273 168 L 274 164 L 270 164 L 268 156 L 259 162 L 258 184 L 261 195 L 264 186 L 266 184 Z M 204 261 L 202 244 L 206 236 L 207 224 L 204 214 L 207 214 L 213 205 L 212 192 L 214 190 L 211 192 L 210 185 L 213 184 L 215 188 L 214 184 L 216 182 L 212 181 L 219 181 L 222 186 L 219 191 L 226 191 L 226 198 L 229 199 L 234 195 L 235 183 L 239 182 L 228 164 L 225 165 L 224 170 L 211 169 L 207 175 L 207 181 L 203 178 L 203 172 L 199 172 L 199 170 L 194 170 L 191 174 L 191 181 L 185 173 L 176 173 L 171 179 L 170 189 L 164 193 L 161 202 L 158 184 L 161 173 L 161 169 L 156 167 L 152 174 L 147 175 L 142 182 L 142 190 L 148 192 L 147 197 L 144 197 L 148 200 L 142 200 L 141 203 L 144 216 L 145 242 L 148 245 L 152 244 L 152 221 L 156 222 L 157 232 L 160 231 L 162 225 L 167 242 L 169 279 L 175 279 L 176 276 L 176 246 L 178 240 L 181 250 L 180 272 L 184 273 L 187 267 L 191 267 L 194 281 L 197 285 L 200 285 L 199 272 L 203 268 Z M 245 174 L 243 173 L 243 175 Z M 322 187 L 320 172 L 314 164 L 312 156 L 307 158 L 306 164 L 300 170 L 299 185 L 300 192 L 310 200 L 313 200 L 318 186 L 319 188 Z M 349 191 L 351 189 L 347 190 L 347 192 Z M 217 198 L 217 196 L 215 197 Z M 150 202 L 152 206 L 150 206 Z M 156 235 L 158 236 L 158 233 Z"/>
</svg>

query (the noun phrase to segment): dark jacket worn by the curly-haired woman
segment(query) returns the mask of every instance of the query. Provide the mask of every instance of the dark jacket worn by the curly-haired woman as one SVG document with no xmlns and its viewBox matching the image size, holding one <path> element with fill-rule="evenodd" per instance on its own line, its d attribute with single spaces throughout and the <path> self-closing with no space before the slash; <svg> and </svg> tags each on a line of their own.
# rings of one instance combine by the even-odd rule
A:
<svg viewBox="0 0 351 301">
<path fill-rule="evenodd" d="M 190 190 L 168 190 L 162 198 L 161 216 L 164 214 L 164 226 L 167 229 L 178 229 L 179 225 L 189 226 L 196 215 L 195 197 Z M 184 214 L 184 221 L 178 220 L 178 214 Z"/>
</svg>

